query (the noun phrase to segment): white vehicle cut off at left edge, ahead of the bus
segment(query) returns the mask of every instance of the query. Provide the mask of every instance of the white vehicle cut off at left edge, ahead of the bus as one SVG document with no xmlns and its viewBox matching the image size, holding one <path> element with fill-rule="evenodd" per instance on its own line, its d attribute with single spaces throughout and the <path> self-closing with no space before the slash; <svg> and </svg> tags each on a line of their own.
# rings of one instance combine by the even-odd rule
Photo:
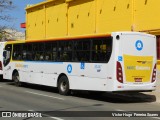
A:
<svg viewBox="0 0 160 120">
<path fill-rule="evenodd" d="M 5 42 L 0 42 L 0 79 L 3 79 L 3 49 Z"/>
</svg>

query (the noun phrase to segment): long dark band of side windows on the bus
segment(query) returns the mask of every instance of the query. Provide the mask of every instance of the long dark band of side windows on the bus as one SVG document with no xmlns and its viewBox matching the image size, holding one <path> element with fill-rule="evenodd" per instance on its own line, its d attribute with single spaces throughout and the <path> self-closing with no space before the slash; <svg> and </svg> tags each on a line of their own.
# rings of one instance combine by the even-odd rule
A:
<svg viewBox="0 0 160 120">
<path fill-rule="evenodd" d="M 101 41 L 96 43 L 96 41 Z M 99 45 L 98 50 L 95 50 L 95 43 Z M 105 44 L 104 44 L 105 43 Z M 81 46 L 79 45 L 81 44 Z M 70 40 L 55 40 L 55 41 L 45 41 L 45 42 L 27 42 L 27 43 L 17 43 L 13 44 L 13 53 L 15 46 L 21 45 L 21 54 L 23 54 L 23 46 L 26 46 L 26 59 L 14 59 L 13 60 L 25 60 L 25 61 L 45 61 L 45 62 L 85 62 L 85 63 L 108 63 L 112 54 L 113 48 L 113 38 L 112 37 L 96 37 L 96 38 L 84 38 L 84 39 L 70 39 Z M 43 49 L 41 49 L 41 45 Z M 102 47 L 104 48 L 101 48 Z M 104 46 L 106 45 L 106 46 Z M 110 45 L 110 53 L 107 58 L 107 47 Z M 50 46 L 50 50 L 47 46 Z M 88 46 L 88 48 L 87 48 Z M 37 48 L 36 48 L 37 47 Z M 69 50 L 70 48 L 70 50 Z M 29 50 L 30 49 L 30 50 Z M 60 51 L 61 49 L 61 51 Z M 105 49 L 105 50 L 103 50 Z M 106 60 L 101 58 L 103 55 L 99 55 L 99 60 L 94 60 L 93 54 L 96 52 L 102 52 L 106 57 Z M 43 59 L 36 59 L 36 54 L 43 53 Z M 66 53 L 66 59 L 61 59 L 60 54 Z M 31 54 L 31 59 L 27 58 L 27 54 Z M 49 56 L 47 56 L 47 54 Z M 34 57 L 34 58 L 33 58 Z M 76 59 L 77 58 L 77 59 Z M 82 59 L 84 58 L 84 60 Z"/>
</svg>

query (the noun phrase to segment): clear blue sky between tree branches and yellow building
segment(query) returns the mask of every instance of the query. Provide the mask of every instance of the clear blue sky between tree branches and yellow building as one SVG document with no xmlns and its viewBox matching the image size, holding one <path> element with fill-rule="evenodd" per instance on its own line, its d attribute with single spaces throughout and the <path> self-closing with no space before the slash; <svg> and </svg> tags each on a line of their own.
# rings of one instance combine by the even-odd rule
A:
<svg viewBox="0 0 160 120">
<path fill-rule="evenodd" d="M 28 4 L 37 4 L 39 2 L 45 0 L 12 0 L 15 8 L 12 11 L 6 12 L 5 14 L 9 14 L 12 16 L 12 22 L 4 22 L 7 26 L 12 26 L 18 31 L 24 31 L 24 29 L 20 28 L 20 24 L 25 22 L 25 8 Z"/>
</svg>

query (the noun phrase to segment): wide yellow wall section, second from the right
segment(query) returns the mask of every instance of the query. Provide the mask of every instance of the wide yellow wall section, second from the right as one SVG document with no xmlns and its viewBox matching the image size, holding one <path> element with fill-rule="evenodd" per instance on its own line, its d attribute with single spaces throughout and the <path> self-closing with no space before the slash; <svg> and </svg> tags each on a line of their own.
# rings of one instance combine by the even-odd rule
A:
<svg viewBox="0 0 160 120">
<path fill-rule="evenodd" d="M 96 32 L 131 31 L 131 0 L 97 0 Z"/>
</svg>

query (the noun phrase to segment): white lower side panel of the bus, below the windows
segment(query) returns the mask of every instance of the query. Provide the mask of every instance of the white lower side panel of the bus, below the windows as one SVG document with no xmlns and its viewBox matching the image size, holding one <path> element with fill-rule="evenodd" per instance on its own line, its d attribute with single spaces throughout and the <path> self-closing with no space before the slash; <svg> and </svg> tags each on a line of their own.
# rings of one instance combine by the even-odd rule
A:
<svg viewBox="0 0 160 120">
<path fill-rule="evenodd" d="M 85 63 L 84 69 L 81 69 L 82 63 L 69 62 L 41 62 L 41 65 L 38 62 L 12 62 L 11 64 L 11 66 L 15 66 L 14 69 L 18 70 L 21 82 L 57 87 L 58 76 L 63 73 L 67 75 L 71 89 L 111 90 L 111 85 L 108 86 L 111 82 L 111 75 L 109 77 L 108 73 L 112 70 L 107 70 L 108 66 L 106 64 Z M 71 73 L 67 71 L 68 65 L 72 66 Z M 10 79 L 11 76 L 10 74 Z"/>
</svg>

